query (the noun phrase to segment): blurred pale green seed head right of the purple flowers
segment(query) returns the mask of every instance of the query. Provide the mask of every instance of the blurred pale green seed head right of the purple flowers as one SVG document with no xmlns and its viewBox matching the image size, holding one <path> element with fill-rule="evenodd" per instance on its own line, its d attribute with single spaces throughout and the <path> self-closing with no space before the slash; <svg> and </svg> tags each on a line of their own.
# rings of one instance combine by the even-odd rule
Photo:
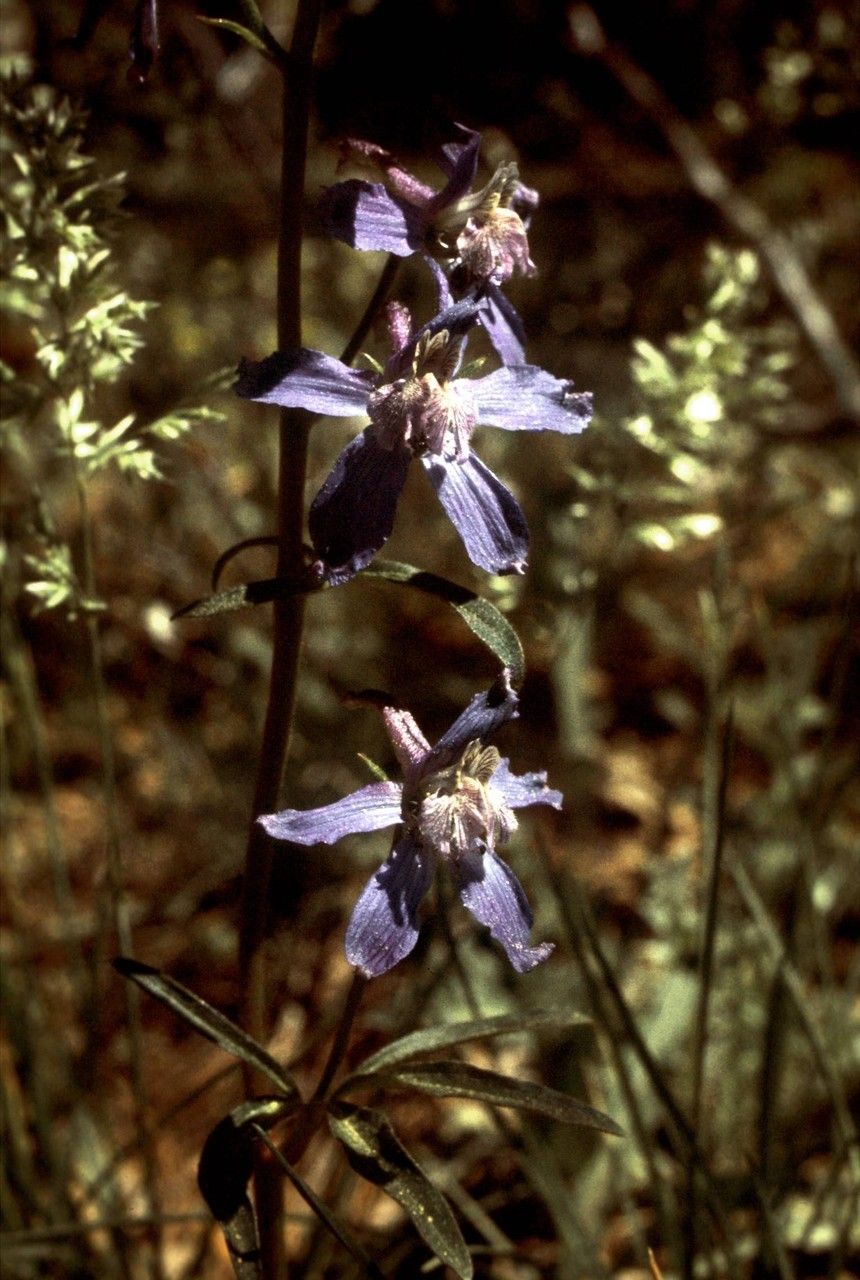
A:
<svg viewBox="0 0 860 1280">
<path fill-rule="evenodd" d="M 633 343 L 636 412 L 598 420 L 585 442 L 572 472 L 577 500 L 557 527 L 585 564 L 567 563 L 568 590 L 589 588 L 600 566 L 630 567 L 642 549 L 724 532 L 759 475 L 767 433 L 790 398 L 795 333 L 763 320 L 768 293 L 751 250 L 712 244 L 704 292 L 689 326 L 662 348 Z"/>
</svg>

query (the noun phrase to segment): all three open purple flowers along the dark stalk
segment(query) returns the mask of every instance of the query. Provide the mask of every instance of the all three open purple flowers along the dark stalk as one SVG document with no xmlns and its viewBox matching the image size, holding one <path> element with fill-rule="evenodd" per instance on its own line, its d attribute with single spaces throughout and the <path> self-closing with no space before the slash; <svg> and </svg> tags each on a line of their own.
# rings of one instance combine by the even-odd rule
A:
<svg viewBox="0 0 860 1280">
<path fill-rule="evenodd" d="M 331 187 L 322 207 L 331 234 L 362 250 L 418 255 L 438 285 L 438 314 L 416 328 L 399 302 L 388 305 L 390 356 L 360 371 L 320 351 L 278 351 L 243 361 L 239 396 L 331 417 L 369 419 L 334 463 L 311 503 L 308 527 L 317 580 L 339 585 L 367 568 L 394 527 L 408 470 L 417 460 L 474 564 L 522 573 L 529 529 L 517 499 L 472 452 L 479 425 L 509 431 L 576 434 L 591 417 L 591 397 L 525 360 L 522 324 L 500 287 L 514 271 L 532 274 L 529 218 L 538 195 L 514 164 L 500 165 L 479 189 L 480 136 L 461 131 L 443 148 L 447 183 L 433 191 L 370 142 L 344 155 L 380 170 L 383 182 L 351 178 Z M 463 353 L 476 324 L 488 330 L 499 369 L 467 376 Z M 430 746 L 412 716 L 384 705 L 383 718 L 403 782 L 379 781 L 320 809 L 285 809 L 260 820 L 269 835 L 299 845 L 333 844 L 358 832 L 398 827 L 388 860 L 371 877 L 347 929 L 347 956 L 379 977 L 410 954 L 417 911 L 438 865 L 447 867 L 463 905 L 502 945 L 518 973 L 552 952 L 529 945 L 532 915 L 522 886 L 497 847 L 516 828 L 514 809 L 561 808 L 544 773 L 522 777 L 489 736 L 517 714 L 506 669 L 476 695 Z"/>
</svg>

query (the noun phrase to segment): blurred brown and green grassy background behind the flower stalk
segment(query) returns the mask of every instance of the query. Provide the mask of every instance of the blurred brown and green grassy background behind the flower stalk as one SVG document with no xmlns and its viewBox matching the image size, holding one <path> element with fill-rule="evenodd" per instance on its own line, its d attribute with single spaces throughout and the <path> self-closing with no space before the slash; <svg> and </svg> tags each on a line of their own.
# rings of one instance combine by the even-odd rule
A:
<svg viewBox="0 0 860 1280">
<path fill-rule="evenodd" d="M 289 0 L 262 10 L 287 38 Z M 154 1002 L 136 1071 L 107 961 L 131 934 L 237 1016 L 269 611 L 171 614 L 210 590 L 227 548 L 274 531 L 276 415 L 229 383 L 241 356 L 275 348 L 280 86 L 174 0 L 138 83 L 132 15 L 131 0 L 86 15 L 6 0 L 1 15 L 15 1280 L 230 1274 L 195 1167 L 239 1074 Z M 438 186 L 462 122 L 484 132 L 485 175 L 513 157 L 541 193 L 539 274 L 509 294 L 529 358 L 596 407 L 575 440 L 477 438 L 529 516 L 526 577 L 477 573 L 420 475 L 388 549 L 482 591 L 522 637 L 522 716 L 498 745 L 521 772 L 546 768 L 566 805 L 523 814 L 509 860 L 557 951 L 516 978 L 456 914 L 463 984 L 430 922 L 416 959 L 371 984 L 357 1048 L 476 1007 L 577 1010 L 590 1028 L 472 1061 L 626 1129 L 499 1128 L 475 1103 L 403 1101 L 398 1133 L 452 1197 L 479 1276 L 790 1280 L 860 1261 L 859 29 L 851 4 L 784 0 L 325 8 L 305 342 L 339 352 L 384 265 L 321 234 L 338 141 L 383 143 Z M 397 292 L 429 317 L 422 264 Z M 366 349 L 384 358 L 384 335 Z M 490 356 L 480 338 L 472 353 Z M 358 425 L 315 429 L 308 500 Z M 251 548 L 221 585 L 273 566 Z M 433 739 L 494 669 L 418 593 L 356 581 L 312 598 L 291 803 L 370 781 L 358 753 L 392 768 L 349 690 L 386 690 Z M 270 1048 L 303 1082 L 349 983 L 348 913 L 386 847 L 276 863 Z M 411 1225 L 330 1142 L 303 1169 L 385 1275 L 421 1272 Z M 360 1274 L 301 1201 L 288 1208 L 291 1275 Z"/>
</svg>

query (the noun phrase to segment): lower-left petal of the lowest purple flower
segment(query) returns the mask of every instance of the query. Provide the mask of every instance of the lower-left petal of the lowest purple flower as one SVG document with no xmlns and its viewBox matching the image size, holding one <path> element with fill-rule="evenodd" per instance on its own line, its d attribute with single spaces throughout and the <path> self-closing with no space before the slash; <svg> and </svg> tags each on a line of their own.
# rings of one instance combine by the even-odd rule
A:
<svg viewBox="0 0 860 1280">
<path fill-rule="evenodd" d="M 407 835 L 365 886 L 347 927 L 346 948 L 349 964 L 366 978 L 388 973 L 417 942 L 418 906 L 434 868 L 434 854 Z"/>
</svg>

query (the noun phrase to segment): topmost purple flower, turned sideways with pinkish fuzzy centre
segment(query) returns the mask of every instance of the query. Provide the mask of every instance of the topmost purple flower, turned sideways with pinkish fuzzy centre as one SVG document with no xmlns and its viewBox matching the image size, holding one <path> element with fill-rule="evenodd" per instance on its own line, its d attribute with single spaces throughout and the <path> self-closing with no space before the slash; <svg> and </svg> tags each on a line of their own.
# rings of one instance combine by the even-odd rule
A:
<svg viewBox="0 0 860 1280">
<path fill-rule="evenodd" d="M 462 141 L 443 147 L 442 168 L 448 182 L 440 191 L 402 169 L 383 147 L 346 142 L 344 160 L 381 170 L 385 180 L 349 178 L 329 187 L 322 216 L 329 232 L 353 248 L 383 250 L 401 257 L 422 253 L 436 275 L 440 308 L 452 297 L 439 266 L 444 264 L 456 293 L 486 298 L 481 323 L 502 360 L 521 365 L 522 321 L 499 285 L 514 271 L 535 274 L 527 227 L 538 192 L 520 182 L 513 161 L 499 165 L 485 187 L 472 191 L 481 136 L 462 125 L 459 129 Z"/>
</svg>

